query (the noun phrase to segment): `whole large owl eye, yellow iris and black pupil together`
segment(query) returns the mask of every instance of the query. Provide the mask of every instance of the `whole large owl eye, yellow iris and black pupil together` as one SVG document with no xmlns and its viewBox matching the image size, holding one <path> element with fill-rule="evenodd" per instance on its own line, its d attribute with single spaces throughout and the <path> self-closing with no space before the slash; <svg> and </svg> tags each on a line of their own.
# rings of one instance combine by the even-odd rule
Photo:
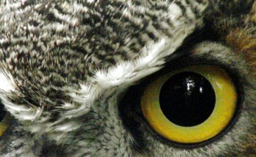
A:
<svg viewBox="0 0 256 157">
<path fill-rule="evenodd" d="M 167 140 L 195 144 L 212 139 L 230 125 L 237 92 L 217 66 L 194 65 L 158 77 L 140 99 L 150 126 Z"/>
</svg>

